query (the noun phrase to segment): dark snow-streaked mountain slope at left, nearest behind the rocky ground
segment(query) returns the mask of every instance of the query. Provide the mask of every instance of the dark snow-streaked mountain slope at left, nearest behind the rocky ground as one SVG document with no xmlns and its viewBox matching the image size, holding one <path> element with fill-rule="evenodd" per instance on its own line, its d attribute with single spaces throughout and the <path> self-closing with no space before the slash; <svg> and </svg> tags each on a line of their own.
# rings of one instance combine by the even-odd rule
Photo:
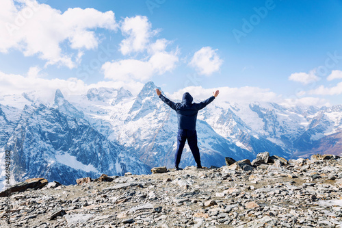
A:
<svg viewBox="0 0 342 228">
<path fill-rule="evenodd" d="M 26 106 L 5 149 L 12 151 L 16 181 L 44 177 L 64 184 L 101 173 L 149 173 L 120 145 L 99 134 L 87 121 L 40 104 Z"/>
</svg>

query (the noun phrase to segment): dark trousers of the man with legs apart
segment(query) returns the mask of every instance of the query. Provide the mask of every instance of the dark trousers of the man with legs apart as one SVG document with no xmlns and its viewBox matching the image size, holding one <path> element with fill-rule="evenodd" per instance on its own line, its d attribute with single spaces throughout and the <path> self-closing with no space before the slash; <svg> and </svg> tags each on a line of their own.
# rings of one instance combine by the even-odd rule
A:
<svg viewBox="0 0 342 228">
<path fill-rule="evenodd" d="M 179 166 L 181 162 L 182 152 L 185 146 L 185 141 L 187 140 L 187 144 L 192 151 L 192 155 L 194 156 L 195 162 L 198 166 L 200 166 L 200 150 L 197 147 L 197 132 L 196 130 L 185 130 L 179 129 L 177 136 L 177 151 L 176 155 L 174 155 L 174 165 L 176 167 Z"/>
</svg>

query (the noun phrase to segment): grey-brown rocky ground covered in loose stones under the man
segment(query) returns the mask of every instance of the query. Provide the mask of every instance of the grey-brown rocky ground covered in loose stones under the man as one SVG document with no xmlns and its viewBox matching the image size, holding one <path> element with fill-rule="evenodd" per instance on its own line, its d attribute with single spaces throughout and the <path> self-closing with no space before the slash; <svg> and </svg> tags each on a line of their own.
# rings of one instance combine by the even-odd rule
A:
<svg viewBox="0 0 342 228">
<path fill-rule="evenodd" d="M 258 156 L 13 192 L 10 213 L 0 198 L 1 227 L 342 227 L 340 157 Z"/>
</svg>

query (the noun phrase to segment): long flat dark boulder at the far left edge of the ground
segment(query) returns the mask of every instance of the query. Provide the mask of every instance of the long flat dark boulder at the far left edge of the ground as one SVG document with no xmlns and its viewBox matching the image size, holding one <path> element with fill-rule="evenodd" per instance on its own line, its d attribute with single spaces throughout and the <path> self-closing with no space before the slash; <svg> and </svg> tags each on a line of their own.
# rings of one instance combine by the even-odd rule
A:
<svg viewBox="0 0 342 228">
<path fill-rule="evenodd" d="M 21 183 L 17 183 L 14 186 L 0 192 L 0 197 L 8 197 L 10 192 L 24 192 L 27 189 L 38 189 L 47 185 L 49 181 L 44 178 L 30 178 Z"/>
</svg>

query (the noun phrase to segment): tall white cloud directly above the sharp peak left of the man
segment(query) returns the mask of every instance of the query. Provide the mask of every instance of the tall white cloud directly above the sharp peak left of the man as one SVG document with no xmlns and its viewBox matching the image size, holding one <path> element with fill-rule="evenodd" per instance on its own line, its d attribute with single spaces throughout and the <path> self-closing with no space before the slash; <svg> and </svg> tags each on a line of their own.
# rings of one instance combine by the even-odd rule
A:
<svg viewBox="0 0 342 228">
<path fill-rule="evenodd" d="M 151 27 L 146 16 L 124 18 L 120 29 L 128 37 L 120 43 L 120 51 L 123 55 L 144 53 L 144 58 L 105 62 L 102 66 L 105 78 L 125 82 L 146 81 L 153 75 L 162 75 L 176 67 L 179 62 L 178 49 L 166 51 L 171 42 L 164 38 L 153 42 L 152 38 L 157 30 L 152 31 Z"/>
</svg>

